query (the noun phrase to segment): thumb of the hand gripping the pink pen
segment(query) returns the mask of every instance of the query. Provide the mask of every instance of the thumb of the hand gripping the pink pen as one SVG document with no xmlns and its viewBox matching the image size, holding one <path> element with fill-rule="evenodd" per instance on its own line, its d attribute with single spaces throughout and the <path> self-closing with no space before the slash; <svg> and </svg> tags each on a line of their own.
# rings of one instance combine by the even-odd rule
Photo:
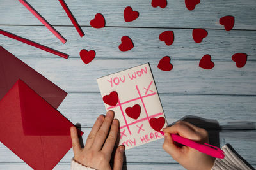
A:
<svg viewBox="0 0 256 170">
<path fill-rule="evenodd" d="M 180 148 L 173 143 L 173 139 L 170 133 L 164 133 L 163 149 L 169 153 L 173 159 L 178 160 L 182 154 Z"/>
</svg>

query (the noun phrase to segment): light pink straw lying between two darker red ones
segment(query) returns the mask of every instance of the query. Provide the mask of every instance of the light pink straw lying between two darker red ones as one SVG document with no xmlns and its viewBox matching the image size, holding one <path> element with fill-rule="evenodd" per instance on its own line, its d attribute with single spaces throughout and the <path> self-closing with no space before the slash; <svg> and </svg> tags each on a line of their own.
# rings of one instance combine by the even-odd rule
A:
<svg viewBox="0 0 256 170">
<path fill-rule="evenodd" d="M 58 39 L 60 39 L 60 41 L 62 43 L 66 43 L 67 40 L 61 36 L 61 34 L 56 31 L 56 29 L 54 29 L 54 27 L 52 27 L 52 25 L 49 24 L 49 22 L 47 22 L 47 20 L 45 20 L 45 18 L 43 18 L 29 3 L 27 3 L 27 1 L 25 0 L 19 0 L 20 3 L 22 3 L 33 15 L 35 15 L 36 18 L 38 18 L 38 20 L 40 20 L 40 22 L 42 22 L 42 24 L 45 25 L 45 27 L 47 27 L 47 29 L 49 29 Z"/>
</svg>

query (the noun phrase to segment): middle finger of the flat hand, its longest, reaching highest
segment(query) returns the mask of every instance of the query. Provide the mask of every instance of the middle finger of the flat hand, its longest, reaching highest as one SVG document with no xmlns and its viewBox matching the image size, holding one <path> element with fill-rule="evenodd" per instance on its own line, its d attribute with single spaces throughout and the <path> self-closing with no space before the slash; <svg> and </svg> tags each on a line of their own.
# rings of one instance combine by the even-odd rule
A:
<svg viewBox="0 0 256 170">
<path fill-rule="evenodd" d="M 104 122 L 102 123 L 99 131 L 97 132 L 97 134 L 95 136 L 95 140 L 94 140 L 93 146 L 92 146 L 93 149 L 101 150 L 102 145 L 107 138 L 109 127 L 112 124 L 113 118 L 114 118 L 114 112 L 108 111 L 106 114 L 106 117 L 104 119 Z"/>
</svg>

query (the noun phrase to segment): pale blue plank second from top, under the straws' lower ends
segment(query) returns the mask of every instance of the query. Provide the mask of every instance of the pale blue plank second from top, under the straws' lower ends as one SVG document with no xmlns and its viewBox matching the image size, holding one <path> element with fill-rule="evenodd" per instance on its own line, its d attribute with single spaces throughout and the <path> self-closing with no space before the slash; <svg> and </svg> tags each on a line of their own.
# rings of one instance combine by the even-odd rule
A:
<svg viewBox="0 0 256 170">
<path fill-rule="evenodd" d="M 2 26 L 1 29 L 68 53 L 70 57 L 79 57 L 80 50 L 85 48 L 95 50 L 96 58 L 104 59 L 160 59 L 169 55 L 172 59 L 200 60 L 205 54 L 210 54 L 214 60 L 231 60 L 234 53 L 246 53 L 248 60 L 256 60 L 255 31 L 227 32 L 209 29 L 207 30 L 209 35 L 198 44 L 193 41 L 192 29 L 83 27 L 85 36 L 80 38 L 74 28 L 58 27 L 58 31 L 68 40 L 63 45 L 46 27 Z M 175 41 L 171 46 L 166 46 L 158 38 L 159 34 L 166 30 L 173 30 L 175 34 Z M 118 49 L 120 39 L 125 35 L 134 43 L 134 48 L 129 52 L 121 52 Z M 2 35 L 0 35 L 0 45 L 17 57 L 58 57 Z"/>
</svg>

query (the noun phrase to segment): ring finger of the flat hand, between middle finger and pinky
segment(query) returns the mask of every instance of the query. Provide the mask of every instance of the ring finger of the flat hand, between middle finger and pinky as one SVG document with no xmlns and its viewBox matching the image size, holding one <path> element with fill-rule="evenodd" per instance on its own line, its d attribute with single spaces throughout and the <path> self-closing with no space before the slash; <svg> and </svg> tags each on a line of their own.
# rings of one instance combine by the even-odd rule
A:
<svg viewBox="0 0 256 170">
<path fill-rule="evenodd" d="M 104 115 L 100 115 L 95 121 L 90 134 L 86 140 L 84 148 L 91 148 L 97 132 L 99 131 L 102 123 L 104 122 Z"/>
</svg>

